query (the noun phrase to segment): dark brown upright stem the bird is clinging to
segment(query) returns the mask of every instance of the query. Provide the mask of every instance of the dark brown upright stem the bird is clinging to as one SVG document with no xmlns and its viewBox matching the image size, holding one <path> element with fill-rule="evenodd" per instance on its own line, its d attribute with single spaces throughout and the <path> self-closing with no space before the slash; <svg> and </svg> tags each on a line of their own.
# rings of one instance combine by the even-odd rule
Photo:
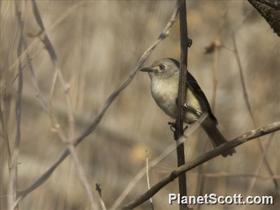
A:
<svg viewBox="0 0 280 210">
<path fill-rule="evenodd" d="M 187 81 L 187 58 L 188 58 L 188 31 L 187 31 L 187 10 L 186 1 L 182 0 L 180 10 L 180 74 L 178 88 L 178 103 L 176 116 L 175 140 L 183 135 L 183 105 L 186 101 L 186 81 Z M 178 142 L 176 142 L 178 143 Z M 178 167 L 185 164 L 184 144 L 177 145 L 177 165 Z M 182 173 L 179 178 L 179 193 L 181 196 L 187 195 L 186 174 Z M 187 205 L 180 205 L 180 210 L 188 209 Z"/>
</svg>

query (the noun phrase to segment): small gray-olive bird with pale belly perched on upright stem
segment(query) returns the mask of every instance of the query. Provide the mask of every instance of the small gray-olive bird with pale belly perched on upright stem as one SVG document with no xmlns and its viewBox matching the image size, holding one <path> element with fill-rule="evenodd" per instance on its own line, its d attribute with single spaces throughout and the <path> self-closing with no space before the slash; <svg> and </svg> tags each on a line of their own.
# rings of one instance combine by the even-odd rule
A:
<svg viewBox="0 0 280 210">
<path fill-rule="evenodd" d="M 161 58 L 154 61 L 150 67 L 140 69 L 149 73 L 151 79 L 151 93 L 157 105 L 169 116 L 176 118 L 177 94 L 180 63 L 172 58 Z M 208 117 L 202 127 L 210 138 L 214 148 L 227 142 L 217 129 L 218 121 L 212 114 L 209 102 L 195 78 L 187 71 L 187 98 L 185 103 L 184 123 L 192 124 L 203 112 Z M 222 153 L 223 157 L 235 153 L 235 149 Z"/>
</svg>

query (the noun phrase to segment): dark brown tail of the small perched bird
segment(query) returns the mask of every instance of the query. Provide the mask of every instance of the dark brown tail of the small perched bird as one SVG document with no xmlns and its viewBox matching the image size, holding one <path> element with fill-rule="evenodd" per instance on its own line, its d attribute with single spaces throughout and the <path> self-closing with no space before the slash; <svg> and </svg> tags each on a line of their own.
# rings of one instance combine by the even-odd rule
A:
<svg viewBox="0 0 280 210">
<path fill-rule="evenodd" d="M 214 148 L 223 143 L 228 142 L 214 124 L 212 124 L 211 126 L 202 125 L 202 127 L 207 133 L 208 137 L 210 138 Z M 222 156 L 223 157 L 227 157 L 228 155 L 232 156 L 233 153 L 236 153 L 236 150 L 234 148 L 223 152 Z"/>
</svg>

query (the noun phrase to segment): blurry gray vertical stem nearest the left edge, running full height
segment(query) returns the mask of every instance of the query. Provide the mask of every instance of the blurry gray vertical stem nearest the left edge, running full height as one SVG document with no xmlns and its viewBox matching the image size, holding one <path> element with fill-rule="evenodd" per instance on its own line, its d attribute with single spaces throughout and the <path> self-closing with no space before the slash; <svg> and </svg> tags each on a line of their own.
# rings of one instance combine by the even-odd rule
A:
<svg viewBox="0 0 280 210">
<path fill-rule="evenodd" d="M 15 4 L 16 6 L 16 4 Z M 22 42 L 23 42 L 23 27 L 24 27 L 24 7 L 25 7 L 25 1 L 21 1 L 21 9 L 20 11 L 17 11 L 16 9 L 16 15 L 18 19 L 18 25 L 20 29 L 20 35 L 19 35 L 19 42 L 18 42 L 18 48 L 17 48 L 17 57 L 19 58 L 22 53 Z M 16 128 L 16 140 L 15 140 L 15 146 L 13 150 L 13 157 L 12 157 L 12 166 L 10 168 L 10 180 L 9 180 L 9 202 L 8 206 L 9 209 L 11 209 L 14 206 L 14 203 L 17 199 L 17 184 L 18 184 L 18 155 L 19 155 L 19 147 L 20 147 L 20 141 L 21 141 L 21 133 L 20 133 L 20 120 L 21 120 L 21 95 L 22 95 L 22 89 L 23 89 L 23 78 L 22 78 L 22 65 L 21 61 L 18 63 L 18 90 L 17 90 L 17 100 L 16 100 L 16 121 L 17 121 L 17 128 Z M 17 209 L 17 205 L 15 206 Z"/>
</svg>

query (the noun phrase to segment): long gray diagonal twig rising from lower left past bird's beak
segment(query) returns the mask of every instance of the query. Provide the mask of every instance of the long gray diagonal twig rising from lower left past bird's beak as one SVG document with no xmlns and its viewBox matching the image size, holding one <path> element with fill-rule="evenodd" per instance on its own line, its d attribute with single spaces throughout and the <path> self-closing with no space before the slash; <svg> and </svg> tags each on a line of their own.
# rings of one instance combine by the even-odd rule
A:
<svg viewBox="0 0 280 210">
<path fill-rule="evenodd" d="M 81 142 L 85 137 L 87 137 L 89 134 L 91 134 L 91 132 L 94 131 L 94 129 L 96 128 L 96 126 L 100 123 L 103 115 L 105 114 L 107 108 L 109 107 L 109 105 L 114 101 L 114 99 L 119 95 L 119 93 L 125 89 L 130 82 L 132 81 L 132 79 L 134 78 L 135 74 L 138 72 L 138 70 L 140 69 L 141 65 L 144 63 L 144 61 L 147 59 L 147 57 L 151 54 L 151 52 L 153 51 L 153 49 L 163 40 L 165 39 L 169 34 L 170 34 L 170 30 L 172 28 L 172 26 L 174 25 L 175 22 L 175 18 L 177 16 L 178 13 L 178 8 L 179 5 L 176 3 L 174 12 L 169 20 L 169 22 L 167 23 L 166 27 L 164 28 L 164 30 L 162 31 L 162 33 L 159 35 L 158 39 L 142 54 L 142 56 L 140 57 L 136 68 L 134 69 L 134 71 L 128 76 L 128 78 L 123 82 L 123 84 L 121 85 L 120 88 L 118 88 L 116 91 L 114 91 L 106 100 L 102 110 L 98 113 L 98 115 L 95 117 L 95 119 L 92 121 L 92 123 L 90 124 L 90 126 L 86 129 L 86 131 L 80 136 L 78 137 L 75 142 L 74 145 L 76 146 L 79 142 Z M 47 170 L 43 175 L 41 175 L 31 186 L 29 186 L 26 190 L 23 190 L 20 193 L 21 195 L 21 199 L 23 197 L 25 197 L 27 194 L 29 194 L 30 192 L 32 192 L 33 190 L 35 190 L 37 187 L 39 187 L 41 184 L 43 184 L 49 177 L 50 175 L 52 175 L 52 173 L 54 172 L 54 170 L 65 160 L 66 157 L 68 157 L 69 155 L 69 150 L 66 150 L 61 157 L 59 158 L 59 160 L 53 165 L 51 166 L 51 168 L 49 170 Z"/>
</svg>

